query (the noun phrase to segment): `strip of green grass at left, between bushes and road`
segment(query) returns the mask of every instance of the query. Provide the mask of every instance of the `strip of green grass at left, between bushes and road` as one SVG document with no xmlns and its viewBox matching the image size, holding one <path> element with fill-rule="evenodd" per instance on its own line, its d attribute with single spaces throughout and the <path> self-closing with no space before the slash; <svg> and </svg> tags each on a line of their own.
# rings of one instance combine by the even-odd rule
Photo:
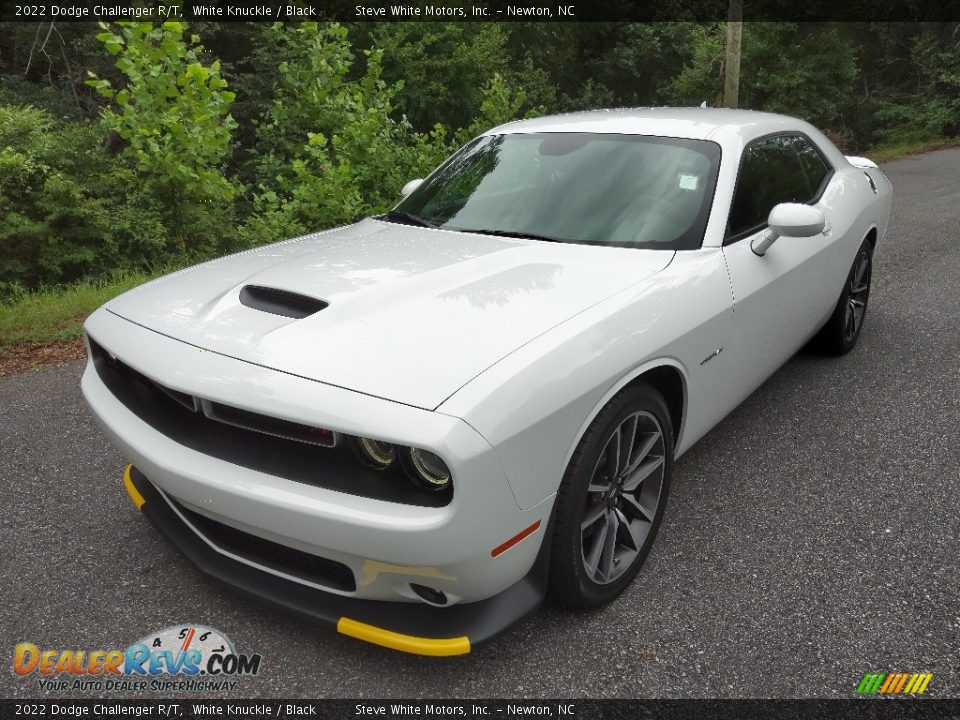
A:
<svg viewBox="0 0 960 720">
<path fill-rule="evenodd" d="M 117 273 L 109 280 L 18 292 L 0 300 L 0 356 L 13 345 L 49 345 L 80 337 L 87 315 L 150 278 L 146 273 Z"/>
</svg>

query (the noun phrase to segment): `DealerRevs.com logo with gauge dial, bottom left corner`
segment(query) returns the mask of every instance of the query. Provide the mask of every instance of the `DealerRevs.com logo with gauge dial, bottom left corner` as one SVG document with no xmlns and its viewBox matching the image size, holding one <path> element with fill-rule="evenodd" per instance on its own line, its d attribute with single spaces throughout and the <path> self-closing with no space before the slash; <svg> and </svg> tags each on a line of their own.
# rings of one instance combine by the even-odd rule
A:
<svg viewBox="0 0 960 720">
<path fill-rule="evenodd" d="M 41 649 L 29 642 L 13 650 L 13 671 L 36 676 L 45 692 L 231 691 L 240 678 L 260 672 L 260 661 L 196 623 L 150 633 L 126 650 Z"/>
</svg>

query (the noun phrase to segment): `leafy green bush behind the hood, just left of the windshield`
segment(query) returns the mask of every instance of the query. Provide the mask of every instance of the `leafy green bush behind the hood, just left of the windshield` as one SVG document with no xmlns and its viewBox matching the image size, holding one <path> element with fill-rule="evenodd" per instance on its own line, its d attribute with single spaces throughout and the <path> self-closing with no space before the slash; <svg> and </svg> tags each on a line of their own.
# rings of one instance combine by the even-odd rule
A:
<svg viewBox="0 0 960 720">
<path fill-rule="evenodd" d="M 383 211 L 407 180 L 448 154 L 442 128 L 416 133 L 405 117 L 393 117 L 402 84 L 383 80 L 380 52 L 365 52 L 363 74 L 352 79 L 355 58 L 342 26 L 275 25 L 272 33 L 280 62 L 257 130 L 264 154 L 244 244 Z"/>
</svg>

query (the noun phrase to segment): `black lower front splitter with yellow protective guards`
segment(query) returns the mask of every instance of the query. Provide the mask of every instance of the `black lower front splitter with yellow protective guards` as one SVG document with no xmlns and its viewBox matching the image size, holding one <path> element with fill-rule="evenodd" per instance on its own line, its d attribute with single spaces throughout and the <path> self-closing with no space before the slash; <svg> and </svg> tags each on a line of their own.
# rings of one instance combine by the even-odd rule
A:
<svg viewBox="0 0 960 720">
<path fill-rule="evenodd" d="M 329 623 L 360 640 L 418 655 L 462 655 L 534 613 L 546 591 L 548 543 L 530 572 L 502 593 L 474 603 L 433 607 L 409 602 L 359 600 L 279 578 L 224 555 L 185 523 L 166 496 L 128 467 L 131 500 L 184 555 L 205 573 L 291 610 Z"/>
</svg>

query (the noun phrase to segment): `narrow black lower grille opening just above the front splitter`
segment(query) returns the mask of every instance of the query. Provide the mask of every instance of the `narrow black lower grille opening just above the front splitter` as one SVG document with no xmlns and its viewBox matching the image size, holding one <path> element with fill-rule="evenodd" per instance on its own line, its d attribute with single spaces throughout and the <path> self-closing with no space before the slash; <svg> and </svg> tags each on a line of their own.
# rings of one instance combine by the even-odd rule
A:
<svg viewBox="0 0 960 720">
<path fill-rule="evenodd" d="M 237 530 L 188 510 L 172 498 L 169 500 L 198 532 L 221 550 L 257 565 L 335 590 L 354 592 L 357 589 L 353 571 L 341 562 L 311 555 Z"/>
</svg>

